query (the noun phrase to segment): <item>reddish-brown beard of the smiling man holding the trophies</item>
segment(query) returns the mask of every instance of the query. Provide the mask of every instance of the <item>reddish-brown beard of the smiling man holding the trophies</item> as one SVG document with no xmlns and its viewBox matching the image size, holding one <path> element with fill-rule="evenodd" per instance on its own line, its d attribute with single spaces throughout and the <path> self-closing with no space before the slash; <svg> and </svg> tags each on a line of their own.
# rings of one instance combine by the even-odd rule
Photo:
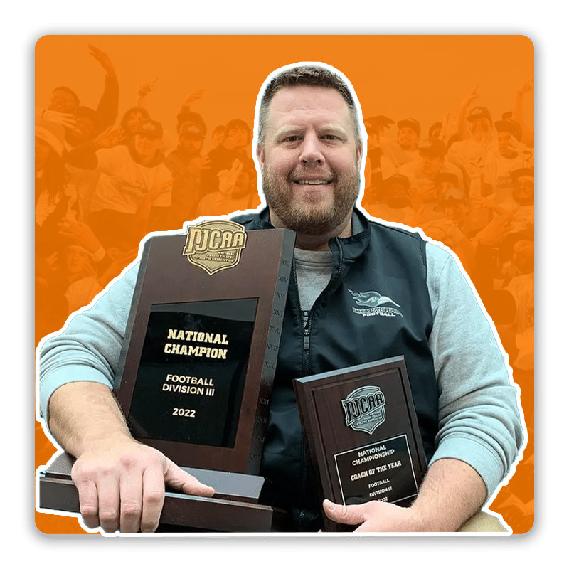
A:
<svg viewBox="0 0 569 569">
<path fill-rule="evenodd" d="M 314 174 L 314 172 L 312 172 Z M 337 228 L 349 216 L 360 187 L 359 171 L 354 168 L 339 178 L 334 174 L 334 203 L 318 204 L 294 201 L 290 184 L 292 173 L 282 180 L 267 166 L 262 170 L 262 188 L 267 206 L 289 229 L 303 235 L 326 235 Z"/>
</svg>

